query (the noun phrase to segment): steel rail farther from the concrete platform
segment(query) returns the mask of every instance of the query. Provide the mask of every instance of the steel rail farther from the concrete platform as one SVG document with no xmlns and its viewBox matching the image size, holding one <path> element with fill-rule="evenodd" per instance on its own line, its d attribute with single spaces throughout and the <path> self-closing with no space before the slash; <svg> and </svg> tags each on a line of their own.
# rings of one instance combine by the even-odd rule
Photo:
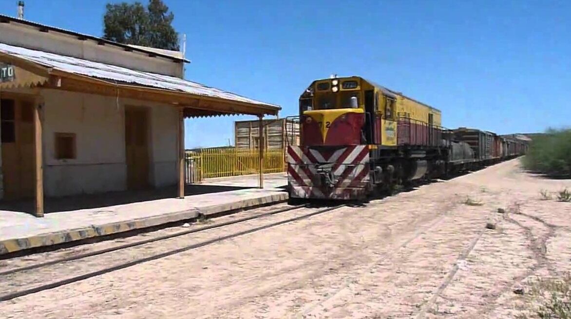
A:
<svg viewBox="0 0 571 319">
<path fill-rule="evenodd" d="M 279 221 L 279 222 L 274 222 L 272 224 L 267 224 L 267 225 L 263 225 L 263 226 L 258 226 L 255 228 L 251 228 L 248 230 L 243 230 L 242 232 L 238 232 L 238 233 L 234 233 L 234 234 L 229 234 L 226 236 L 222 236 L 222 237 L 218 237 L 218 238 L 214 238 L 211 240 L 207 240 L 207 241 L 203 241 L 203 242 L 199 242 L 197 244 L 192 244 L 192 245 L 188 245 L 188 246 L 184 246 L 182 248 L 177 248 L 177 249 L 173 249 L 173 250 L 169 250 L 168 252 L 164 252 L 164 253 L 160 253 L 160 254 L 155 254 L 153 256 L 149 256 L 149 257 L 144 257 L 144 258 L 140 258 L 138 260 L 133 260 L 130 262 L 125 262 L 123 264 L 119 264 L 119 265 L 115 265 L 115 266 L 111 266 L 108 268 L 104 268 L 104 269 L 100 269 L 100 270 L 96 270 L 95 272 L 90 272 L 90 273 L 85 273 L 79 276 L 75 276 L 75 277 L 71 277 L 71 278 L 67 278 L 64 280 L 60 280 L 60 281 L 56 281 L 56 282 L 51 282 L 50 284 L 45 284 L 45 285 L 41 285 L 41 286 L 37 286 L 34 288 L 30 288 L 30 289 L 25 289 L 25 290 L 20 290 L 19 292 L 14 292 L 14 293 L 9 293 L 9 294 L 5 294 L 3 296 L 0 296 L 0 302 L 1 301 L 8 301 L 8 300 L 12 300 L 14 298 L 18 298 L 18 297 L 23 297 L 29 294 L 33 294 L 33 293 L 38 293 L 38 292 L 42 292 L 43 290 L 48 290 L 48 289 L 53 289 L 53 288 L 57 288 L 59 286 L 63 286 L 63 285 L 68 285 L 71 284 L 73 282 L 77 282 L 77 281 L 81 281 L 81 280 L 86 280 L 88 278 L 91 277 L 95 277 L 95 276 L 100 276 L 102 274 L 106 274 L 106 273 L 110 273 L 110 272 L 114 272 L 116 270 L 120 270 L 120 269 L 124 269 L 124 268 L 128 268 L 131 266 L 135 266 L 138 264 L 142 264 L 143 262 L 148 262 L 148 261 L 152 261 L 152 260 L 157 260 L 159 258 L 164 258 L 167 256 L 171 256 L 174 254 L 178 254 L 178 253 L 182 253 L 182 252 L 186 252 L 187 250 L 192 250 L 192 249 L 196 249 L 196 248 L 200 248 L 206 245 L 210 245 L 210 244 L 214 244 L 215 242 L 219 242 L 219 241 L 223 241 L 223 240 L 227 240 L 230 238 L 235 238 L 235 237 L 239 237 L 239 236 L 243 236 L 246 234 L 250 234 L 250 233 L 254 233 L 254 232 L 258 232 L 259 230 L 263 230 L 263 229 L 267 229 L 267 228 L 272 228 L 275 226 L 279 226 L 279 225 L 283 225 L 283 224 L 287 224 L 289 222 L 293 222 L 293 221 L 299 221 L 299 220 L 303 220 L 305 218 L 309 218 L 318 214 L 323 214 L 326 212 L 330 212 L 331 210 L 335 210 L 335 209 L 339 209 L 343 206 L 346 205 L 338 205 L 338 206 L 333 206 L 330 208 L 325 208 L 325 209 L 320 209 L 320 210 L 316 210 L 315 212 L 312 213 L 308 213 L 308 214 L 304 214 L 301 216 L 297 216 L 297 217 L 293 217 L 293 218 L 289 218 L 287 220 L 283 220 L 283 221 Z"/>
</svg>

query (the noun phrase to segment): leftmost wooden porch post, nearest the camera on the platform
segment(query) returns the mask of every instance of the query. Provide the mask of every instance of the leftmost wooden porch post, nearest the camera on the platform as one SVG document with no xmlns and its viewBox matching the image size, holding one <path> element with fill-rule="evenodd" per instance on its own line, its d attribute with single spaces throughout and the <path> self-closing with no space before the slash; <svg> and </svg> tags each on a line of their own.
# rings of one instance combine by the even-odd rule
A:
<svg viewBox="0 0 571 319">
<path fill-rule="evenodd" d="M 35 216 L 43 217 L 43 155 L 42 155 L 43 99 L 34 101 L 34 161 L 35 161 Z"/>
</svg>

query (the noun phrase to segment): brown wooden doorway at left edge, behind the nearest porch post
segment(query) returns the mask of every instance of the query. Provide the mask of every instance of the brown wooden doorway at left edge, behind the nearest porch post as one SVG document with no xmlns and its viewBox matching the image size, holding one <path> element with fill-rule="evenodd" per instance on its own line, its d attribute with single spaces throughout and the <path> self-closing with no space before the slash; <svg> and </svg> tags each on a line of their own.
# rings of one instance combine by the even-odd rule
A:
<svg viewBox="0 0 571 319">
<path fill-rule="evenodd" d="M 0 99 L 4 198 L 34 196 L 34 99 L 2 94 Z"/>
</svg>

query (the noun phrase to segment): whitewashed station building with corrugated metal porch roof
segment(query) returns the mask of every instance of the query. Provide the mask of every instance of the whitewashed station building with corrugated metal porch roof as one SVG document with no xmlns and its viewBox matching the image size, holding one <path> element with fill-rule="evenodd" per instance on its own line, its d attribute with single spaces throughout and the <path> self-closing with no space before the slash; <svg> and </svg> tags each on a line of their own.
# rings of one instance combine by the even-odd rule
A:
<svg viewBox="0 0 571 319">
<path fill-rule="evenodd" d="M 184 196 L 184 118 L 279 107 L 184 79 L 178 51 L 0 15 L 0 201 L 155 189 Z"/>
</svg>

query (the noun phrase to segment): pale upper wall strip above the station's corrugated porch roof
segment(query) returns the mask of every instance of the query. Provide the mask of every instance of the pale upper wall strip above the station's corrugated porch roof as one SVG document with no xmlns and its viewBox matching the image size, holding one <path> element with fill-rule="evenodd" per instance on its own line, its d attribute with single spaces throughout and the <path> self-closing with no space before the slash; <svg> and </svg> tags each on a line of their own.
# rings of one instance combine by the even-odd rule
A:
<svg viewBox="0 0 571 319">
<path fill-rule="evenodd" d="M 162 57 L 149 57 L 146 53 L 124 51 L 112 45 L 98 45 L 92 40 L 54 32 L 41 32 L 37 28 L 19 23 L 0 23 L 0 43 L 22 46 L 71 57 L 102 62 L 129 69 L 183 77 L 183 63 Z"/>
</svg>

